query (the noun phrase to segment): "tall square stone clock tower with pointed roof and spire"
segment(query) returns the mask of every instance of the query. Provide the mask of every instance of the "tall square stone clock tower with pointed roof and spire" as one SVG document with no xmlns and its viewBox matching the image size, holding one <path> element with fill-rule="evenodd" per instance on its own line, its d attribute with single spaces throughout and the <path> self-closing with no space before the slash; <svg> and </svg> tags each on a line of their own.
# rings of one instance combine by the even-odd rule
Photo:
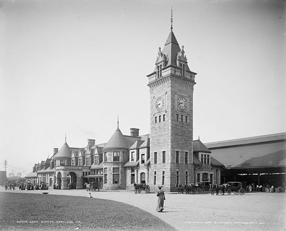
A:
<svg viewBox="0 0 286 231">
<path fill-rule="evenodd" d="M 172 23 L 172 18 L 171 18 Z M 187 64 L 184 46 L 171 31 L 163 50 L 159 47 L 150 88 L 150 187 L 194 183 L 193 89 L 196 73 Z"/>
</svg>

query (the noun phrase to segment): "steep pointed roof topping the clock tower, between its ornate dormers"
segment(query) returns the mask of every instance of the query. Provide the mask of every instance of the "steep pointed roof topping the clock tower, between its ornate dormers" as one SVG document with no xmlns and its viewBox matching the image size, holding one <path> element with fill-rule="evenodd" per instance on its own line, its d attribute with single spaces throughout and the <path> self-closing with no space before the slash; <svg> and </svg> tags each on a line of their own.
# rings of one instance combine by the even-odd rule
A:
<svg viewBox="0 0 286 231">
<path fill-rule="evenodd" d="M 171 31 L 165 43 L 164 49 L 162 51 L 162 53 L 167 56 L 166 67 L 168 67 L 169 65 L 177 66 L 176 60 L 177 60 L 178 53 L 180 51 L 181 49 L 180 49 L 179 43 L 177 42 L 177 39 L 173 31 Z"/>
</svg>

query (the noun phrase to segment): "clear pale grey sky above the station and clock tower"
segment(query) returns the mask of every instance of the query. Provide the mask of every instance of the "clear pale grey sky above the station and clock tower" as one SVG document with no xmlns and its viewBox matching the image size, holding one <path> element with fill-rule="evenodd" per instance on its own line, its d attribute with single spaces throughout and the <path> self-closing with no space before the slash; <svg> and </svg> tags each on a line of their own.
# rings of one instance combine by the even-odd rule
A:
<svg viewBox="0 0 286 231">
<path fill-rule="evenodd" d="M 170 32 L 196 75 L 193 137 L 286 132 L 282 0 L 0 0 L 0 161 L 150 133 L 147 75 Z M 1 169 L 2 171 L 4 168 Z"/>
</svg>

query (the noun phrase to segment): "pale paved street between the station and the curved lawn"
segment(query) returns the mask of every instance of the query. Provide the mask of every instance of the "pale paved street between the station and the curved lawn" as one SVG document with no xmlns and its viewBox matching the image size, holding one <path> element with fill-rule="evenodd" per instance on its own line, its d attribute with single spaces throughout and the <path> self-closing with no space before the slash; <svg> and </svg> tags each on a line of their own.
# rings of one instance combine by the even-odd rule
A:
<svg viewBox="0 0 286 231">
<path fill-rule="evenodd" d="M 0 189 L 4 191 L 3 188 Z M 42 194 L 44 191 L 10 191 Z M 46 192 L 46 191 L 45 191 Z M 86 190 L 53 190 L 54 195 L 88 197 Z M 248 193 L 245 195 L 166 194 L 164 213 L 155 211 L 154 193 L 135 195 L 133 191 L 92 192 L 93 197 L 124 202 L 143 209 L 170 224 L 178 231 L 285 231 L 286 194 Z M 44 195 L 43 195 L 44 196 Z M 91 198 L 88 198 L 91 199 Z"/>
</svg>

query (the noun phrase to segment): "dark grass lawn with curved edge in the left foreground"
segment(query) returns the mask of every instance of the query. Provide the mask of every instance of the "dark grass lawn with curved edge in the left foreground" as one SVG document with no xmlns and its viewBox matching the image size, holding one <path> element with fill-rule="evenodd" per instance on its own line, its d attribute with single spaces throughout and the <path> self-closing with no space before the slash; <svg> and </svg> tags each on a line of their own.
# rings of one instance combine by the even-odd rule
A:
<svg viewBox="0 0 286 231">
<path fill-rule="evenodd" d="M 0 230 L 175 231 L 151 213 L 117 201 L 6 192 L 0 194 Z"/>
</svg>

